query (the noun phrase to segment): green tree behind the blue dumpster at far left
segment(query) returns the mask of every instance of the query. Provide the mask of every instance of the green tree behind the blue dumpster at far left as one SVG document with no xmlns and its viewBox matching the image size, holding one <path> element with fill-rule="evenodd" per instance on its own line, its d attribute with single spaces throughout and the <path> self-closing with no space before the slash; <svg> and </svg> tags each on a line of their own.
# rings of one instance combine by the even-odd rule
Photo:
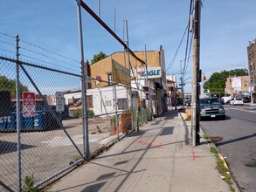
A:
<svg viewBox="0 0 256 192">
<path fill-rule="evenodd" d="M 10 95 L 16 94 L 16 80 L 7 79 L 5 76 L 0 76 L 0 91 L 9 91 Z M 19 93 L 28 92 L 27 86 L 19 83 Z"/>
</svg>

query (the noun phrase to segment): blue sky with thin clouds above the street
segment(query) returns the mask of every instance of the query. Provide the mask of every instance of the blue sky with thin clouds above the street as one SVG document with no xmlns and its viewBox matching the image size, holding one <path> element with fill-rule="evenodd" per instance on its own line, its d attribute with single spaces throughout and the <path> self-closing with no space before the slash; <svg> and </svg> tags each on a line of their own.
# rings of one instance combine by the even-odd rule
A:
<svg viewBox="0 0 256 192">
<path fill-rule="evenodd" d="M 99 0 L 84 2 L 98 14 Z M 189 22 L 190 0 L 100 0 L 100 18 L 113 31 L 114 9 L 115 33 L 123 39 L 123 20 L 128 20 L 128 41 L 132 51 L 144 51 L 145 45 L 148 51 L 159 51 L 163 45 L 168 73 L 176 74 L 179 79 L 180 62 L 183 63 L 185 58 L 186 36 L 177 54 L 176 51 Z M 200 68 L 207 79 L 213 72 L 247 68 L 246 47 L 249 40 L 256 38 L 255 10 L 255 0 L 203 0 Z M 91 61 L 93 55 L 100 51 L 107 55 L 123 51 L 120 43 L 86 10 L 81 8 L 81 14 L 86 59 Z M 80 71 L 75 0 L 2 0 L 0 25 L 0 55 L 15 56 L 15 39 L 10 37 L 18 34 L 24 48 L 21 57 L 27 61 L 54 64 L 55 68 L 66 67 L 77 73 Z M 185 92 L 191 91 L 191 72 L 192 58 L 183 77 L 188 79 Z"/>
</svg>

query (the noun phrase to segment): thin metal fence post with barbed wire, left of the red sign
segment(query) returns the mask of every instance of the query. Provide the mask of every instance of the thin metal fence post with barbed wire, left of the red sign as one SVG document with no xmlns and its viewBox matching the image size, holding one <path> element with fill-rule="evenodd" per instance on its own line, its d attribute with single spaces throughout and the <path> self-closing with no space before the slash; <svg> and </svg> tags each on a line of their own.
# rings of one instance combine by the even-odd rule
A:
<svg viewBox="0 0 256 192">
<path fill-rule="evenodd" d="M 20 101 L 19 101 L 19 67 L 18 67 L 18 57 L 19 57 L 19 38 L 16 35 L 16 126 L 17 126 L 17 182 L 18 182 L 18 191 L 22 190 L 22 181 L 21 181 L 21 143 L 20 143 Z"/>
</svg>

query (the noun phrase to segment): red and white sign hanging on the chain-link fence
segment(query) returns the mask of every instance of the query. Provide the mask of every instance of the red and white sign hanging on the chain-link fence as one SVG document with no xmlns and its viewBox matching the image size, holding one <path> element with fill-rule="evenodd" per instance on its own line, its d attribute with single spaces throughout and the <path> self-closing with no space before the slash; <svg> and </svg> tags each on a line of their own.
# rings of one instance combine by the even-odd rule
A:
<svg viewBox="0 0 256 192">
<path fill-rule="evenodd" d="M 22 110 L 24 117 L 34 117 L 36 115 L 36 94 L 24 92 L 22 93 Z"/>
</svg>

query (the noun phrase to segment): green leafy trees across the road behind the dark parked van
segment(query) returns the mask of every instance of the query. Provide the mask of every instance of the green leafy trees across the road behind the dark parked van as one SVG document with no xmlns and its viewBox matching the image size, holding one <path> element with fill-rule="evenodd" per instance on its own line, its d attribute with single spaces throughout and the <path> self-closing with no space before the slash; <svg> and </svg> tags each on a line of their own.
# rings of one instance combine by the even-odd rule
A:
<svg viewBox="0 0 256 192">
<path fill-rule="evenodd" d="M 231 71 L 213 72 L 210 79 L 204 83 L 204 89 L 209 89 L 211 93 L 220 93 L 225 95 L 225 81 L 228 77 L 246 76 L 246 69 L 235 69 Z"/>
</svg>

